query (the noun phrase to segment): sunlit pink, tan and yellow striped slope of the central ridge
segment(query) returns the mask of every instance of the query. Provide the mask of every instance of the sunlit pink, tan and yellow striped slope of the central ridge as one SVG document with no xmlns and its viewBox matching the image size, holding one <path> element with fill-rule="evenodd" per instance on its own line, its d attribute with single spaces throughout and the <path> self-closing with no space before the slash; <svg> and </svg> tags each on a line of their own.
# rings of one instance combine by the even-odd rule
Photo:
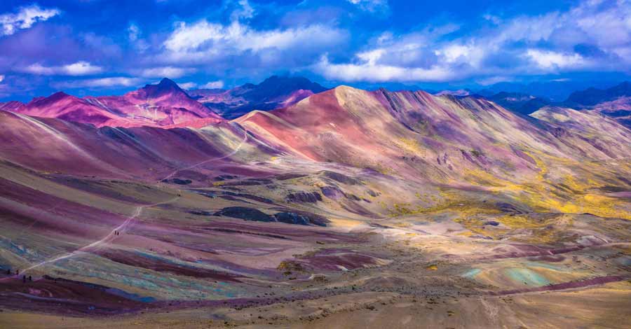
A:
<svg viewBox="0 0 631 329">
<path fill-rule="evenodd" d="M 462 203 L 461 190 L 475 188 L 529 211 L 630 218 L 624 200 L 606 190 L 628 189 L 631 132 L 598 115 L 581 116 L 591 128 L 559 127 L 474 97 L 342 86 L 236 121 L 298 158 L 442 186 L 440 195 L 429 196 L 436 207 Z M 423 193 L 419 202 L 404 199 L 388 209 L 428 211 L 422 199 Z"/>
</svg>

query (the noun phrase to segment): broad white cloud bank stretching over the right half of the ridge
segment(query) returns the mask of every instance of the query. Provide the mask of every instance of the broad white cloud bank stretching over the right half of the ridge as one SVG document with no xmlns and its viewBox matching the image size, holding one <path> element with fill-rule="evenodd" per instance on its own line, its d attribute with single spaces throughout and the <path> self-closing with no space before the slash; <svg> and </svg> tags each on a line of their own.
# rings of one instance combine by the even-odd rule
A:
<svg viewBox="0 0 631 329">
<path fill-rule="evenodd" d="M 348 0 L 360 4 L 361 0 Z M 511 76 L 594 69 L 631 69 L 631 3 L 589 0 L 564 12 L 500 18 L 454 37 L 457 27 L 395 36 L 376 34 L 346 61 L 322 57 L 313 67 L 327 78 L 374 82 L 510 80 Z"/>
</svg>

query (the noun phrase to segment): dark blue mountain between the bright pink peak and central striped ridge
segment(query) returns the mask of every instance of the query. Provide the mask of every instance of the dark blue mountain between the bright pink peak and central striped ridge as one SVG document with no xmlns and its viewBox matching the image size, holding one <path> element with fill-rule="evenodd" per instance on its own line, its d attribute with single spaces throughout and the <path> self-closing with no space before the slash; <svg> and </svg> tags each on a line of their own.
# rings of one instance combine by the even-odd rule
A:
<svg viewBox="0 0 631 329">
<path fill-rule="evenodd" d="M 269 111 L 289 106 L 325 90 L 307 78 L 271 76 L 258 85 L 246 83 L 231 90 L 189 90 L 189 94 L 224 118 L 233 119 L 255 109 Z"/>
</svg>

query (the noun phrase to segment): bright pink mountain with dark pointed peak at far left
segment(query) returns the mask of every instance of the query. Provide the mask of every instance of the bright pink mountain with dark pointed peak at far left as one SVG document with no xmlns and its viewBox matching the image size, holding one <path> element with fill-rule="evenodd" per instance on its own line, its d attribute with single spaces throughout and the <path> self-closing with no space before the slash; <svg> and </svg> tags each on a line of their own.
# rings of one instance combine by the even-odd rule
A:
<svg viewBox="0 0 631 329">
<path fill-rule="evenodd" d="M 0 106 L 13 111 L 43 118 L 60 118 L 97 127 L 138 127 L 182 125 L 212 118 L 223 120 L 210 111 L 172 80 L 164 78 L 157 85 L 146 85 L 123 96 L 79 98 L 65 92 L 49 97 L 37 97 L 28 104 L 9 102 Z"/>
</svg>

